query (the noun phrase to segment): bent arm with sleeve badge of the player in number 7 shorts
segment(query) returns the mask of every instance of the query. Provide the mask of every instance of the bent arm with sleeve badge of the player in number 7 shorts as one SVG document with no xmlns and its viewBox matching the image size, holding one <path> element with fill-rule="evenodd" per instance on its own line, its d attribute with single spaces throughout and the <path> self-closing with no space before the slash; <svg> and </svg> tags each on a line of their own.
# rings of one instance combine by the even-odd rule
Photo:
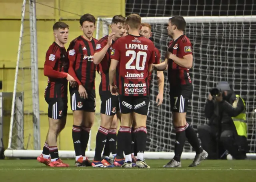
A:
<svg viewBox="0 0 256 182">
<path fill-rule="evenodd" d="M 193 65 L 193 55 L 192 55 L 192 45 L 190 42 L 181 42 L 180 45 L 180 52 L 183 55 L 183 58 L 178 58 L 171 52 L 167 52 L 167 58 L 173 60 L 176 64 L 184 68 L 192 68 Z"/>
</svg>

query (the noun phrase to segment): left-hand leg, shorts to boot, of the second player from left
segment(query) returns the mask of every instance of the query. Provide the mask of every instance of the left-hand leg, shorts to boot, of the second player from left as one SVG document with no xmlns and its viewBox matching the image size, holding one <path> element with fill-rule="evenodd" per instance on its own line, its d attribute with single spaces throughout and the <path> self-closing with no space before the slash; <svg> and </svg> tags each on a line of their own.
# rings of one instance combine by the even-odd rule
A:
<svg viewBox="0 0 256 182">
<path fill-rule="evenodd" d="M 78 90 L 70 91 L 70 104 L 73 111 L 72 139 L 76 155 L 75 165 L 78 167 L 83 165 L 81 134 L 83 121 L 83 107 L 85 100 L 80 97 Z"/>
</svg>

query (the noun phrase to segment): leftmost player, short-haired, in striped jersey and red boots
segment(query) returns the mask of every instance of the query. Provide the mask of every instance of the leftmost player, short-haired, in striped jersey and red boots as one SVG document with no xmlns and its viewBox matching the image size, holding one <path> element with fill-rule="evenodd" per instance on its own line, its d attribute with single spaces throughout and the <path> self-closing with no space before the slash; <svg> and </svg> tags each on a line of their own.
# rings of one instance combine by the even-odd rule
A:
<svg viewBox="0 0 256 182">
<path fill-rule="evenodd" d="M 48 48 L 44 62 L 44 76 L 48 77 L 44 97 L 48 104 L 49 130 L 43 152 L 37 160 L 51 167 L 68 167 L 59 159 L 57 136 L 66 124 L 68 81 L 71 86 L 76 81 L 68 74 L 68 54 L 64 47 L 68 41 L 68 25 L 56 22 L 53 31 L 55 42 Z"/>
</svg>

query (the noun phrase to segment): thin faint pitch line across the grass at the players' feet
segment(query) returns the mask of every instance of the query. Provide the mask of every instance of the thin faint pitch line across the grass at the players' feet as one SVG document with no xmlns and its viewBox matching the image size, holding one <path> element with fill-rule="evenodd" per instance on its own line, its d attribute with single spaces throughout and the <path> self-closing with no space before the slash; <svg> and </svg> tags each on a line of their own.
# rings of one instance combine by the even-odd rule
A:
<svg viewBox="0 0 256 182">
<path fill-rule="evenodd" d="M 40 170 L 40 171 L 47 171 L 47 170 L 99 170 L 101 168 L 97 168 L 97 169 L 93 169 L 93 168 L 81 168 L 81 169 L 77 169 L 77 168 L 52 168 L 52 169 L 49 169 L 49 168 L 46 168 L 46 169 L 40 169 L 40 168 L 31 168 L 31 169 L 19 169 L 19 168 L 14 168 L 14 169 L 3 169 L 3 168 L 0 168 L 0 170 Z M 135 168 L 135 169 L 111 169 L 111 168 L 108 168 L 106 170 L 140 170 L 138 168 Z M 143 170 L 186 170 L 186 171 L 222 171 L 222 170 L 225 170 L 225 171 L 255 171 L 256 169 L 178 169 L 178 168 L 163 168 L 163 169 L 159 169 L 159 168 L 150 168 L 150 169 L 143 169 Z"/>
</svg>

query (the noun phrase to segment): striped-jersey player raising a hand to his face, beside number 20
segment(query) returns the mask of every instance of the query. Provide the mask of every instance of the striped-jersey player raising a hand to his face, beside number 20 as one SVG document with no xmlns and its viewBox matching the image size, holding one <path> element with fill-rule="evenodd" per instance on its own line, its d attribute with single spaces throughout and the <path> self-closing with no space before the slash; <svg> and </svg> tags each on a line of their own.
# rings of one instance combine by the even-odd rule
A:
<svg viewBox="0 0 256 182">
<path fill-rule="evenodd" d="M 117 114 L 118 118 L 121 119 L 119 112 L 118 96 L 113 96 L 110 92 L 109 87 L 109 76 L 108 71 L 110 67 L 110 52 L 114 42 L 123 36 L 125 32 L 125 17 L 122 15 L 116 15 L 112 18 L 110 25 L 112 33 L 104 36 L 98 41 L 94 54 L 94 63 L 99 66 L 99 72 L 101 76 L 99 94 L 100 94 L 100 128 L 96 136 L 96 148 L 95 156 L 93 160 L 94 167 L 106 167 L 101 159 L 108 160 L 109 154 L 104 150 L 103 157 L 101 153 L 105 145 L 105 149 L 110 145 L 110 151 L 114 156 L 116 155 L 116 126 L 113 122 L 114 116 Z M 116 121 L 116 120 L 115 120 Z M 105 144 L 105 140 L 107 140 Z M 121 156 L 119 156 L 121 155 Z M 123 152 L 118 152 L 118 157 L 124 158 Z M 109 167 L 109 166 L 108 166 Z"/>
</svg>

